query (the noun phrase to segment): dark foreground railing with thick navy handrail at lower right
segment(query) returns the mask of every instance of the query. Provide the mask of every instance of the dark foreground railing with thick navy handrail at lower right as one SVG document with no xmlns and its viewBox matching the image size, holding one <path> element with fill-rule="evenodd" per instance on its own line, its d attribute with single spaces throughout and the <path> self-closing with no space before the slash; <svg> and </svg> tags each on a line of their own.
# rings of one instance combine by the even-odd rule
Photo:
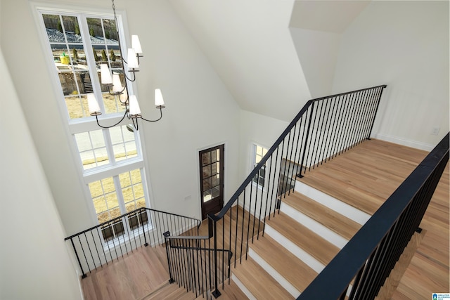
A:
<svg viewBox="0 0 450 300">
<path fill-rule="evenodd" d="M 449 162 L 449 133 L 297 298 L 375 299 Z"/>
</svg>

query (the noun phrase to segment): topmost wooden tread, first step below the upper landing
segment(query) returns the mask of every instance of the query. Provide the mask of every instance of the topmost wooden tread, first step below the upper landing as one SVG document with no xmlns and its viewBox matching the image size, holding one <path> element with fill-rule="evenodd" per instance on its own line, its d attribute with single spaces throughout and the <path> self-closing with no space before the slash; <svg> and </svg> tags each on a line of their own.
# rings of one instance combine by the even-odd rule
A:
<svg viewBox="0 0 450 300">
<path fill-rule="evenodd" d="M 290 195 L 283 198 L 282 202 L 345 237 L 347 240 L 350 240 L 361 228 L 359 223 L 300 193 L 290 193 Z"/>
</svg>

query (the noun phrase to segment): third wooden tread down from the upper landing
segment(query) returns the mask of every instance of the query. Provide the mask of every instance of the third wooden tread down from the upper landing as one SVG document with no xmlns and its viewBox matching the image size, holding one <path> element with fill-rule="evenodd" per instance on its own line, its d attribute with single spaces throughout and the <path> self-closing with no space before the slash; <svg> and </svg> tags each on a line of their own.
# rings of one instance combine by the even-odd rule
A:
<svg viewBox="0 0 450 300">
<path fill-rule="evenodd" d="M 269 235 L 259 237 L 259 240 L 250 244 L 250 248 L 300 292 L 316 278 L 316 271 Z"/>
</svg>

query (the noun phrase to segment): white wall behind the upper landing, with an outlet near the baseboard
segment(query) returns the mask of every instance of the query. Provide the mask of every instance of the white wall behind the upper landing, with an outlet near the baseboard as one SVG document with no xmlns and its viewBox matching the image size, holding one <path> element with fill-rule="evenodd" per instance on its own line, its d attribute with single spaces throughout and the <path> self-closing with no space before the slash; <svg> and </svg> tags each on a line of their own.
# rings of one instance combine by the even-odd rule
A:
<svg viewBox="0 0 450 300">
<path fill-rule="evenodd" d="M 342 36 L 334 78 L 335 92 L 387 84 L 375 137 L 430 150 L 449 131 L 449 1 L 372 1 Z"/>
</svg>

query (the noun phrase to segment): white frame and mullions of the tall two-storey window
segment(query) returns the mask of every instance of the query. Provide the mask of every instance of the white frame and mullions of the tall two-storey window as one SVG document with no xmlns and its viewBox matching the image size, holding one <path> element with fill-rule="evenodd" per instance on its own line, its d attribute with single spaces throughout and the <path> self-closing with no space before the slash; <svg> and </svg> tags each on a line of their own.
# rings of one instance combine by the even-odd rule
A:
<svg viewBox="0 0 450 300">
<path fill-rule="evenodd" d="M 90 41 L 86 41 L 85 37 L 89 37 L 89 29 L 87 28 L 87 18 L 102 18 L 102 19 L 111 19 L 113 20 L 114 15 L 110 10 L 106 10 L 103 8 L 91 8 L 84 6 L 71 6 L 66 4 L 40 4 L 38 2 L 30 1 L 30 5 L 32 6 L 32 11 L 34 13 L 34 18 L 37 22 L 37 31 L 41 40 L 41 46 L 44 51 L 46 65 L 49 67 L 49 78 L 52 82 L 52 87 L 54 91 L 55 98 L 57 100 L 57 105 L 60 111 L 60 117 L 64 124 L 64 128 L 66 131 L 67 141 L 70 146 L 70 152 L 72 153 L 72 157 L 77 162 L 77 173 L 83 185 L 83 194 L 85 196 L 85 200 L 88 204 L 89 213 L 91 214 L 91 219 L 94 224 L 100 224 L 98 221 L 98 216 L 96 214 L 96 208 L 94 207 L 94 202 L 91 197 L 91 192 L 89 190 L 89 183 L 94 181 L 98 181 L 105 178 L 110 178 L 120 176 L 127 171 L 133 171 L 135 169 L 139 169 L 141 173 L 141 184 L 143 188 L 143 197 L 145 199 L 146 207 L 151 206 L 152 197 L 150 195 L 150 181 L 148 176 L 148 165 L 146 163 L 146 155 L 143 150 L 144 143 L 144 134 L 143 129 L 137 131 L 134 134 L 134 142 L 136 143 L 136 157 L 131 157 L 127 159 L 121 159 L 119 161 L 115 161 L 115 155 L 113 150 L 113 141 L 110 137 L 109 129 L 102 129 L 97 125 L 95 117 L 82 117 L 80 119 L 70 119 L 67 106 L 65 104 L 65 96 L 63 94 L 63 89 L 61 88 L 60 79 L 58 78 L 58 72 L 55 72 L 54 61 L 53 61 L 53 53 L 51 51 L 51 42 L 46 34 L 46 26 L 44 24 L 43 15 L 53 14 L 53 15 L 68 15 L 73 16 L 75 18 L 83 18 L 84 21 L 78 20 L 79 29 L 83 37 L 82 45 L 84 49 L 88 49 L 91 47 Z M 127 44 L 129 44 L 129 40 L 126 38 L 129 36 L 127 29 L 127 16 L 124 11 L 117 11 L 117 24 L 119 38 L 120 38 L 120 46 L 122 46 L 122 53 L 124 48 L 126 48 Z M 50 51 L 49 51 L 50 50 Z M 85 51 L 86 56 L 91 56 L 89 58 L 90 62 L 94 61 L 94 53 L 91 51 Z M 87 60 L 87 58 L 86 58 Z M 109 60 L 109 59 L 108 59 Z M 92 65 L 89 66 L 89 75 L 91 77 L 94 93 L 96 95 L 101 95 L 101 88 L 98 76 L 94 76 L 91 71 L 93 68 Z M 96 75 L 96 74 L 95 74 Z M 129 84 L 129 89 L 132 91 L 134 89 L 134 84 Z M 135 93 L 135 92 L 134 92 Z M 103 107 L 103 101 L 99 101 L 101 105 L 101 109 L 105 112 Z M 99 119 L 102 123 L 106 124 L 114 124 L 118 120 L 122 119 L 123 112 L 114 112 L 108 113 L 99 116 Z M 102 124 L 101 123 L 101 124 Z M 117 126 L 126 126 L 127 122 L 122 122 Z M 75 134 L 84 133 L 94 130 L 101 130 L 103 133 L 103 138 L 105 138 L 105 145 L 108 149 L 108 157 L 113 159 L 114 162 L 111 162 L 106 166 L 94 167 L 91 169 L 84 169 L 82 164 L 82 158 L 80 156 L 79 148 L 77 145 L 77 141 L 75 140 Z M 121 210 L 121 214 L 127 213 L 125 208 L 125 202 L 123 200 L 122 189 L 120 188 L 120 184 L 117 188 L 117 183 L 115 183 L 116 189 L 115 193 L 117 198 L 122 198 L 122 202 L 119 202 L 119 207 Z M 124 219 L 124 218 L 122 218 Z M 149 219 L 150 220 L 150 219 Z M 128 232 L 131 234 L 129 228 L 129 222 L 126 220 L 124 226 L 128 227 Z M 149 230 L 151 226 L 148 226 Z M 139 228 L 135 228 L 134 230 L 139 230 Z M 127 233 L 127 230 L 125 230 Z M 121 237 L 116 237 L 121 238 Z M 107 241 L 103 241 L 103 243 L 108 243 Z"/>
</svg>

